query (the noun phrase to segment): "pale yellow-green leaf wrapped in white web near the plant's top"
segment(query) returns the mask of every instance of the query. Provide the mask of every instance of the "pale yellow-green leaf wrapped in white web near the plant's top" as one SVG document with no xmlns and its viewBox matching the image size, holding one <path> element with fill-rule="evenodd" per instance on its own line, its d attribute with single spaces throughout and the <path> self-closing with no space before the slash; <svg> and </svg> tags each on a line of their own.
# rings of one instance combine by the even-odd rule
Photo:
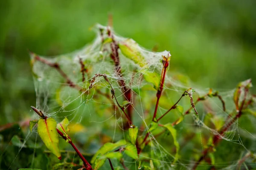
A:
<svg viewBox="0 0 256 170">
<path fill-rule="evenodd" d="M 147 67 L 145 58 L 140 53 L 140 46 L 132 39 L 127 39 L 119 43 L 122 54 L 135 62 L 141 68 Z"/>
</svg>

